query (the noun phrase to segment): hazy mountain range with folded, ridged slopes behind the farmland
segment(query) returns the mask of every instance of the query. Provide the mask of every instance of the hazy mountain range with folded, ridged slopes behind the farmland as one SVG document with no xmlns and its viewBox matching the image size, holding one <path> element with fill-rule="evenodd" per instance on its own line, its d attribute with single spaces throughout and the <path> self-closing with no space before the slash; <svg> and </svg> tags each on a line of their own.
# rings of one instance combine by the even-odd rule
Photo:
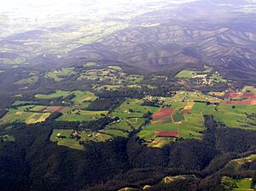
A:
<svg viewBox="0 0 256 191">
<path fill-rule="evenodd" d="M 231 77 L 256 79 L 256 31 L 240 29 L 238 23 L 209 24 L 168 20 L 160 26 L 131 26 L 71 51 L 65 63 L 112 61 L 149 71 L 207 64 Z"/>
</svg>

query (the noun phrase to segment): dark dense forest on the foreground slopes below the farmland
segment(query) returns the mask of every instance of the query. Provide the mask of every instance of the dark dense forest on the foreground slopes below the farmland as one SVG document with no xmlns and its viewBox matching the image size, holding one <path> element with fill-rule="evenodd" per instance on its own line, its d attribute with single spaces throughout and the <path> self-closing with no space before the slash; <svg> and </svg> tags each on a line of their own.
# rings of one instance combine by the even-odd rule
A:
<svg viewBox="0 0 256 191">
<path fill-rule="evenodd" d="M 218 170 L 230 159 L 256 152 L 256 132 L 225 128 L 212 116 L 205 116 L 205 125 L 201 141 L 181 139 L 164 148 L 148 148 L 134 136 L 84 142 L 85 151 L 79 151 L 49 141 L 53 128 L 78 129 L 77 124 L 13 124 L 15 142 L 0 144 L 1 190 L 116 190 L 151 184 L 152 190 L 208 191 L 222 190 L 223 175 L 255 177 L 254 162 L 239 172 Z M 191 173 L 195 180 L 158 184 L 163 177 Z"/>
</svg>

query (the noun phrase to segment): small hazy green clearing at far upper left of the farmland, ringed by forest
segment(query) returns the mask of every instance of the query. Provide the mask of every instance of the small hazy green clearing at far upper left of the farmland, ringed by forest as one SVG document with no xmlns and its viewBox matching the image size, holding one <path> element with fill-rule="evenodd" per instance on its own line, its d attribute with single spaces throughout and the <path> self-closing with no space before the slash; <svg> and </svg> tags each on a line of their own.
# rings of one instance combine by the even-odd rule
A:
<svg viewBox="0 0 256 191">
<path fill-rule="evenodd" d="M 67 76 L 72 75 L 73 67 L 62 68 L 61 70 L 54 70 L 51 72 L 47 72 L 44 77 L 45 78 L 53 78 L 55 82 L 60 82 L 61 80 L 65 79 Z"/>
</svg>

